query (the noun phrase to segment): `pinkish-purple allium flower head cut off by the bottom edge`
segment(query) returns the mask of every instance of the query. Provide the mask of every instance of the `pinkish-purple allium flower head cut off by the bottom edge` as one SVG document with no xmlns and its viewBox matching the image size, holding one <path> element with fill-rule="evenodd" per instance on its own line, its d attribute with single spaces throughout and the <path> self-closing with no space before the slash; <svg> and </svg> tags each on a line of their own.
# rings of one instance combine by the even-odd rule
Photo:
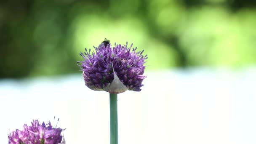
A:
<svg viewBox="0 0 256 144">
<path fill-rule="evenodd" d="M 33 120 L 31 126 L 24 124 L 20 131 L 12 131 L 9 136 L 9 144 L 65 144 L 62 143 L 61 128 L 53 128 L 51 122 L 42 125 L 38 120 Z"/>
</svg>

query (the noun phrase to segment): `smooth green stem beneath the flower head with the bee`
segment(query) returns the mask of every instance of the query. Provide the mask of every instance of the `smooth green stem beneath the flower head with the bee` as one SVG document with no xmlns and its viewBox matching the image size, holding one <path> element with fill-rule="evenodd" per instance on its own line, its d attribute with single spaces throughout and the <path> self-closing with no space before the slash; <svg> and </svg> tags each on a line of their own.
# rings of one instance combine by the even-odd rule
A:
<svg viewBox="0 0 256 144">
<path fill-rule="evenodd" d="M 118 144 L 117 94 L 109 93 L 110 144 Z"/>
</svg>

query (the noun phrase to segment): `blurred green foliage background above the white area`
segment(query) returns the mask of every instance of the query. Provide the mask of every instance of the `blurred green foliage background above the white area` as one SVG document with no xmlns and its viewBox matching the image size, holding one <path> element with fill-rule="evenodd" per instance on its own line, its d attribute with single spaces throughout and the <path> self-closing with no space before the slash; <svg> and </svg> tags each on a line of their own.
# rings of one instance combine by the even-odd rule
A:
<svg viewBox="0 0 256 144">
<path fill-rule="evenodd" d="M 256 64 L 255 0 L 1 0 L 0 78 L 81 73 L 107 37 L 148 54 L 147 69 Z"/>
</svg>

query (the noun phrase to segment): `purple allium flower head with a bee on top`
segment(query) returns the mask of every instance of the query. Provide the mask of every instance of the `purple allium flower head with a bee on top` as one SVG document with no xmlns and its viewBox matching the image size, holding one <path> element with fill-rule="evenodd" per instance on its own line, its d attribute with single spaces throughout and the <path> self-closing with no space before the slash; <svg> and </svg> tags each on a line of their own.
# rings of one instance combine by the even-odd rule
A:
<svg viewBox="0 0 256 144">
<path fill-rule="evenodd" d="M 147 55 L 143 51 L 136 52 L 137 48 L 128 48 L 126 45 L 116 45 L 112 48 L 105 38 L 95 51 L 85 48 L 83 61 L 80 67 L 83 70 L 85 85 L 95 91 L 109 93 L 123 93 L 126 90 L 141 91 L 142 80 L 146 78 L 144 63 Z"/>
</svg>

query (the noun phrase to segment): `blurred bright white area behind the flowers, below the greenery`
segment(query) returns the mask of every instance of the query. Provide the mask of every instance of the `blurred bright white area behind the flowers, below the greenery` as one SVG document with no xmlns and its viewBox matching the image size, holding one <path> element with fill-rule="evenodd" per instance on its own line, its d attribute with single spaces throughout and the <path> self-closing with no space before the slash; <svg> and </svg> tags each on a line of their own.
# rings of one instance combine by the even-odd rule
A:
<svg viewBox="0 0 256 144">
<path fill-rule="evenodd" d="M 118 96 L 119 144 L 256 144 L 256 69 L 147 72 Z M 59 117 L 67 144 L 109 144 L 109 95 L 81 75 L 0 80 L 0 144 Z"/>
</svg>

